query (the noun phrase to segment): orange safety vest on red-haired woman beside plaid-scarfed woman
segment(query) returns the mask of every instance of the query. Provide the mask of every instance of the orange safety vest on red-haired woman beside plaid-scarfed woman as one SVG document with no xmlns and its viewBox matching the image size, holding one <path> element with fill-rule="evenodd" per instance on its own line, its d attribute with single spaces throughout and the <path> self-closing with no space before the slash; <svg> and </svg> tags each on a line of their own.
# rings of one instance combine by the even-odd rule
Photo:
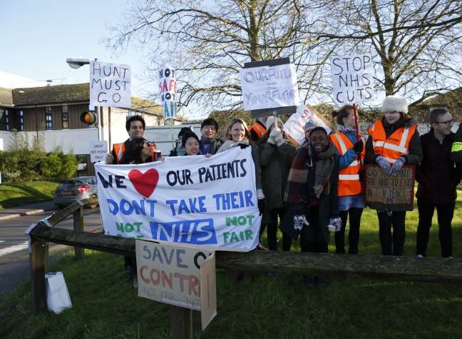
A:
<svg viewBox="0 0 462 339">
<path fill-rule="evenodd" d="M 339 151 L 340 156 L 343 156 L 350 148 L 353 148 L 353 143 L 344 133 L 334 133 L 330 135 L 331 141 Z M 364 147 L 365 148 L 365 147 Z M 364 148 L 361 152 L 361 159 L 364 159 Z M 364 186 L 359 181 L 359 171 L 362 163 L 358 156 L 354 158 L 347 167 L 339 171 L 339 193 L 338 196 L 356 196 L 364 192 Z"/>
</svg>

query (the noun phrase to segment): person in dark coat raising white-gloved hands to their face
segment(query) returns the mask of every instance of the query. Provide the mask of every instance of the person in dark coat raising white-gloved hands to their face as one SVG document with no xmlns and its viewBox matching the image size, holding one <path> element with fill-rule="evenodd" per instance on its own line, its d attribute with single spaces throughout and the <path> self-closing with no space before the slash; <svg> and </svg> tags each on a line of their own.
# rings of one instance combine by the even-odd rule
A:
<svg viewBox="0 0 462 339">
<path fill-rule="evenodd" d="M 297 153 L 296 146 L 287 140 L 281 119 L 267 118 L 267 132 L 258 141 L 260 146 L 260 166 L 262 166 L 262 185 L 265 193 L 266 210 L 262 225 L 267 225 L 268 247 L 277 251 L 278 218 L 284 217 L 284 188 L 290 166 Z M 260 231 L 262 233 L 262 231 Z M 290 237 L 282 233 L 282 251 L 290 251 Z"/>
</svg>

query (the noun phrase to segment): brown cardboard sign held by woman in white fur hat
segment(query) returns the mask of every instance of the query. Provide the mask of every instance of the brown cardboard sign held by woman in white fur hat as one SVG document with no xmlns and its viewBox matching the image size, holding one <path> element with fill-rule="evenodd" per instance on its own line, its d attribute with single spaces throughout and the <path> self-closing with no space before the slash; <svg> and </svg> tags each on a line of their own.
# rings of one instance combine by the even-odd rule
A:
<svg viewBox="0 0 462 339">
<path fill-rule="evenodd" d="M 397 176 L 387 176 L 379 165 L 366 165 L 366 203 L 414 204 L 416 167 L 406 165 Z"/>
</svg>

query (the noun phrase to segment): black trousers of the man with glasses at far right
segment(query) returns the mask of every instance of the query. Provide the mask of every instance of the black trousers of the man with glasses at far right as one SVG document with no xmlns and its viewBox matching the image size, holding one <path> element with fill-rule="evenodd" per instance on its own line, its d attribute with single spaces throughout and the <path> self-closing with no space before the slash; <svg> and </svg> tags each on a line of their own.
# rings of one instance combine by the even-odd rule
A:
<svg viewBox="0 0 462 339">
<path fill-rule="evenodd" d="M 451 257 L 452 254 L 452 226 L 451 222 L 454 216 L 456 203 L 446 203 L 435 205 L 427 201 L 417 201 L 419 208 L 419 226 L 417 227 L 417 254 L 426 255 L 428 245 L 428 236 L 430 235 L 431 219 L 433 212 L 438 213 L 439 240 L 441 246 L 441 256 L 443 258 Z"/>
</svg>

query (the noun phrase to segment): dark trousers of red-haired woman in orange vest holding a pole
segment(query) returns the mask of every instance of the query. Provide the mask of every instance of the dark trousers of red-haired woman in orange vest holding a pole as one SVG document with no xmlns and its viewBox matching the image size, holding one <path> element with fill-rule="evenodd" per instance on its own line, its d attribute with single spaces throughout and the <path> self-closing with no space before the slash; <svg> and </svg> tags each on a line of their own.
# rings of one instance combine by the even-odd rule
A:
<svg viewBox="0 0 462 339">
<path fill-rule="evenodd" d="M 351 207 L 348 211 L 340 211 L 342 228 L 335 232 L 335 253 L 345 253 L 345 228 L 349 216 L 348 253 L 358 254 L 359 226 L 361 224 L 362 208 Z"/>
</svg>

